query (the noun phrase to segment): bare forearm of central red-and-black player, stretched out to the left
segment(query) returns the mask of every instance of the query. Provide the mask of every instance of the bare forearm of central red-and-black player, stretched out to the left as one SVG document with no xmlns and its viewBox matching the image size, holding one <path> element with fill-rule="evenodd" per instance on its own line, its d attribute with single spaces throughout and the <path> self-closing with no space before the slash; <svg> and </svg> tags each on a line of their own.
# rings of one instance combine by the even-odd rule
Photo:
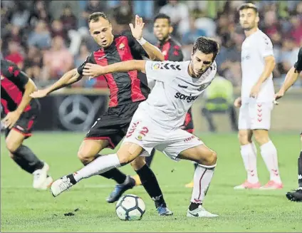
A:
<svg viewBox="0 0 302 233">
<path fill-rule="evenodd" d="M 49 93 L 53 92 L 54 90 L 61 89 L 63 87 L 66 87 L 68 85 L 71 85 L 73 83 L 78 82 L 83 76 L 81 76 L 77 69 L 73 69 L 71 71 L 68 71 L 65 73 L 56 83 L 53 83 L 53 85 L 41 89 L 41 90 L 36 90 L 31 94 L 32 98 L 43 98 Z"/>
</svg>

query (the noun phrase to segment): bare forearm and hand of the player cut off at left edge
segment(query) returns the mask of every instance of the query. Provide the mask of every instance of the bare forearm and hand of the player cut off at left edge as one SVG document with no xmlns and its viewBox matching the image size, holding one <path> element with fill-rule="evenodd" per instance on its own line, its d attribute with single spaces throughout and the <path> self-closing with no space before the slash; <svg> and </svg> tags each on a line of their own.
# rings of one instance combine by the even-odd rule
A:
<svg viewBox="0 0 302 233">
<path fill-rule="evenodd" d="M 33 93 L 34 90 L 37 90 L 35 83 L 28 78 L 28 82 L 24 86 L 24 95 L 22 97 L 21 103 L 19 104 L 16 110 L 7 113 L 6 117 L 2 120 L 6 128 L 13 128 L 16 122 L 19 120 L 21 114 L 24 112 L 26 106 L 31 102 L 30 94 Z"/>
</svg>

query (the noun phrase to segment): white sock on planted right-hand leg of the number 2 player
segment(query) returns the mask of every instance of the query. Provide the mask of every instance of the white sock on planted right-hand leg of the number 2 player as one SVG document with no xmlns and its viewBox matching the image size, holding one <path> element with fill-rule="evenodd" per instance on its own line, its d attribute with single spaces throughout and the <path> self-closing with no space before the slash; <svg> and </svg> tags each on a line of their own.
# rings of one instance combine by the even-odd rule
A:
<svg viewBox="0 0 302 233">
<path fill-rule="evenodd" d="M 191 202 L 202 204 L 204 197 L 207 195 L 209 183 L 214 175 L 214 166 L 198 165 L 194 172 L 194 187 Z"/>
</svg>

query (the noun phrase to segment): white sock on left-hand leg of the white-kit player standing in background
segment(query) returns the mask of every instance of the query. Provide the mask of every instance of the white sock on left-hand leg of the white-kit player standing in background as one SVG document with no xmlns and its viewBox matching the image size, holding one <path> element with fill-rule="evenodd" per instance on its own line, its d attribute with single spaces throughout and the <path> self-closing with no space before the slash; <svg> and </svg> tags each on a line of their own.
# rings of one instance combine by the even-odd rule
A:
<svg viewBox="0 0 302 233">
<path fill-rule="evenodd" d="M 259 182 L 257 173 L 257 149 L 254 143 L 241 145 L 241 157 L 244 160 L 244 167 L 247 172 L 247 181 L 251 183 Z"/>
</svg>

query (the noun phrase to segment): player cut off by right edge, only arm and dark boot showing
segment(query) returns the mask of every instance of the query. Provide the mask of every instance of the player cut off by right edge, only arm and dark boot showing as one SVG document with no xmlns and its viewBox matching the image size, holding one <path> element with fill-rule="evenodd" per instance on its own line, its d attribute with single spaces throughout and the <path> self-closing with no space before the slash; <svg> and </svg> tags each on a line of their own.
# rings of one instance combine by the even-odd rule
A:
<svg viewBox="0 0 302 233">
<path fill-rule="evenodd" d="M 275 95 L 275 99 L 278 100 L 279 98 L 282 98 L 283 95 L 286 93 L 286 90 L 290 88 L 293 83 L 295 83 L 298 80 L 298 76 L 302 71 L 302 47 L 299 50 L 298 53 L 298 60 L 293 65 L 293 67 L 288 71 L 286 74 L 285 81 L 283 85 L 281 86 L 278 93 Z M 293 202 L 302 202 L 302 132 L 300 134 L 301 138 L 301 152 L 300 156 L 298 157 L 298 189 L 293 192 L 287 192 L 286 197 L 288 200 L 291 200 Z"/>
</svg>

